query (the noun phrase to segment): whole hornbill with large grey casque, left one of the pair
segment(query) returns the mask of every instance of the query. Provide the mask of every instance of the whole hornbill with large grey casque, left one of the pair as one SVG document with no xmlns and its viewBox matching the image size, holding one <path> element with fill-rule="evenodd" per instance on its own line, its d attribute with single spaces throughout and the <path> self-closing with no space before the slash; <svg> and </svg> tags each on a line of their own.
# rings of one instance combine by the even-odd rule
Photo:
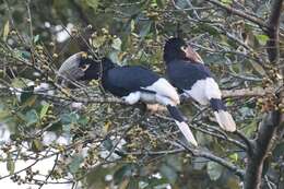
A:
<svg viewBox="0 0 284 189">
<path fill-rule="evenodd" d="M 69 68 L 68 64 L 71 66 L 70 68 L 73 71 L 66 70 L 66 68 Z M 59 72 L 68 72 L 71 75 L 75 73 L 76 80 L 100 79 L 104 90 L 121 97 L 130 105 L 141 101 L 145 104 L 166 106 L 187 141 L 196 146 L 198 145 L 182 114 L 177 108 L 180 101 L 175 87 L 166 79 L 161 78 L 153 71 L 140 66 L 119 67 L 108 58 L 95 61 L 83 58 L 82 52 L 79 52 L 67 59 Z"/>
</svg>

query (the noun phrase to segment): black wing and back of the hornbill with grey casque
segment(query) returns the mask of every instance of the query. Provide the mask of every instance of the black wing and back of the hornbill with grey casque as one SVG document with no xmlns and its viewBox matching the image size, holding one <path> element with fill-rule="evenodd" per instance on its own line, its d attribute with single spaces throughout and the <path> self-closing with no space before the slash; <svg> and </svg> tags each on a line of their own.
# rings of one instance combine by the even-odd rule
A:
<svg viewBox="0 0 284 189">
<path fill-rule="evenodd" d="M 139 66 L 118 67 L 109 70 L 106 78 L 103 80 L 105 90 L 109 91 L 116 96 L 127 96 L 137 91 L 146 91 L 155 93 L 143 87 L 152 85 L 159 76 Z"/>
</svg>

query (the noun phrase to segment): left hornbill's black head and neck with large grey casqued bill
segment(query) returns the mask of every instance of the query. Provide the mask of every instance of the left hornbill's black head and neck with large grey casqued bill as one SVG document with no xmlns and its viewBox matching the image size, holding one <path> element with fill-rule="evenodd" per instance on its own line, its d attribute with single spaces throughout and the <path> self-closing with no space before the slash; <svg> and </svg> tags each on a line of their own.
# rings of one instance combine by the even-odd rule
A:
<svg viewBox="0 0 284 189">
<path fill-rule="evenodd" d="M 108 59 L 95 60 L 86 52 L 78 52 L 69 57 L 59 68 L 59 82 L 70 86 L 74 82 L 98 80 L 103 73 L 114 68 L 115 64 Z"/>
</svg>

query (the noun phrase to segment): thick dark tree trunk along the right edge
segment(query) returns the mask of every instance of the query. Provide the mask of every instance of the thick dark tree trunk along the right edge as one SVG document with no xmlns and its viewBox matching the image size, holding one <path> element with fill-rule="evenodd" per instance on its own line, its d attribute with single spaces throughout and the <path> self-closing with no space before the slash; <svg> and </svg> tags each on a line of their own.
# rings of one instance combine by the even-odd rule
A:
<svg viewBox="0 0 284 189">
<path fill-rule="evenodd" d="M 277 63 L 280 57 L 279 49 L 279 25 L 283 0 L 275 0 L 269 20 L 269 28 L 264 31 L 269 36 L 268 57 L 271 64 Z M 283 92 L 280 94 L 279 101 L 283 101 Z M 262 122 L 259 125 L 259 131 L 255 139 L 253 151 L 248 156 L 246 167 L 245 189 L 260 189 L 263 172 L 263 162 L 267 158 L 273 143 L 273 138 L 276 138 L 277 129 L 281 129 L 283 114 L 281 110 L 269 111 Z"/>
</svg>

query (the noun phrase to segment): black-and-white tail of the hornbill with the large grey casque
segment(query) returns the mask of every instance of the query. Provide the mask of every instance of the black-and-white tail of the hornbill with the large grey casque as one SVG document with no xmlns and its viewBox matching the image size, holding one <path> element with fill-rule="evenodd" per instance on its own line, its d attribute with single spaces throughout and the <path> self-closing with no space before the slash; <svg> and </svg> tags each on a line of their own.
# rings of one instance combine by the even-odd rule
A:
<svg viewBox="0 0 284 189">
<path fill-rule="evenodd" d="M 187 125 L 186 120 L 184 119 L 182 114 L 176 106 L 167 106 L 167 109 L 170 114 L 170 116 L 175 119 L 176 125 L 178 126 L 181 133 L 185 135 L 188 142 L 193 144 L 194 146 L 198 146 L 198 142 L 194 139 L 193 133 L 189 129 L 189 126 Z"/>
</svg>

